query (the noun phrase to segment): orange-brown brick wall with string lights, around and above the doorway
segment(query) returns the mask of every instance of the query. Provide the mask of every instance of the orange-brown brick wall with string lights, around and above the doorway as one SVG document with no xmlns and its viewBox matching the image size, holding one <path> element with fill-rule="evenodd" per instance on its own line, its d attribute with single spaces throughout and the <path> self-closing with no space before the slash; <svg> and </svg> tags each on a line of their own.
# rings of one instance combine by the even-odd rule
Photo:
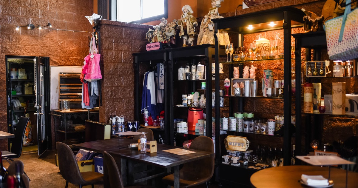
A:
<svg viewBox="0 0 358 188">
<path fill-rule="evenodd" d="M 19 31 L 29 23 L 56 29 L 92 32 L 86 15 L 92 15 L 93 0 L 1 0 L 0 1 L 0 130 L 7 131 L 5 55 L 50 57 L 51 66 L 82 66 L 90 34 L 56 30 Z M 53 140 L 54 142 L 54 140 Z M 6 140 L 0 149 L 7 150 Z"/>
</svg>

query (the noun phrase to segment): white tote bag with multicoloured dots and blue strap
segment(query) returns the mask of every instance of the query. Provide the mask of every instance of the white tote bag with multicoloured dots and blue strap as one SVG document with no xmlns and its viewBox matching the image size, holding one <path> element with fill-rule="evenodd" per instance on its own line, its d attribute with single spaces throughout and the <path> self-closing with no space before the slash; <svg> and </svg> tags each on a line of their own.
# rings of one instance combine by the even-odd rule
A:
<svg viewBox="0 0 358 188">
<path fill-rule="evenodd" d="M 334 61 L 358 58 L 358 8 L 351 11 L 350 1 L 342 16 L 325 22 L 328 55 Z"/>
</svg>

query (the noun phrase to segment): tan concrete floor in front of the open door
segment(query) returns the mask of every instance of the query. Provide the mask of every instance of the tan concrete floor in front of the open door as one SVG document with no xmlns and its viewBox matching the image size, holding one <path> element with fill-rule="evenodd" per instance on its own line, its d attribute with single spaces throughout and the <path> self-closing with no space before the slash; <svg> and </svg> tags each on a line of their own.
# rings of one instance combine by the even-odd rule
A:
<svg viewBox="0 0 358 188">
<path fill-rule="evenodd" d="M 55 150 L 45 151 L 43 155 L 38 156 L 37 151 L 32 153 L 23 153 L 20 158 L 24 163 L 24 171 L 30 178 L 30 188 L 58 188 L 65 187 L 66 181 L 59 174 L 59 169 L 55 165 Z M 8 168 L 9 163 L 3 160 L 5 168 Z M 78 187 L 69 183 L 69 188 Z M 84 186 L 91 187 L 91 185 Z M 206 188 L 205 184 L 195 186 L 197 188 Z M 217 185 L 209 185 L 209 188 L 217 188 Z M 103 188 L 103 185 L 95 185 L 95 188 Z"/>
</svg>

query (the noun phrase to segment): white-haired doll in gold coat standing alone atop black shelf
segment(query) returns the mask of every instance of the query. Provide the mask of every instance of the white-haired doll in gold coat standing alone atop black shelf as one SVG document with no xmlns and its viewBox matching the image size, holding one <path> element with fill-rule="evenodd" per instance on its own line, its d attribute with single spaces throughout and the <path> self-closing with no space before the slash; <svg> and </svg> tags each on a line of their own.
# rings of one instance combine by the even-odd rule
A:
<svg viewBox="0 0 358 188">
<path fill-rule="evenodd" d="M 196 26 L 198 26 L 198 20 L 192 15 L 194 11 L 189 5 L 184 5 L 182 8 L 183 14 L 178 20 L 179 37 L 183 38 L 183 47 L 194 45 L 194 37 L 198 34 Z"/>
</svg>

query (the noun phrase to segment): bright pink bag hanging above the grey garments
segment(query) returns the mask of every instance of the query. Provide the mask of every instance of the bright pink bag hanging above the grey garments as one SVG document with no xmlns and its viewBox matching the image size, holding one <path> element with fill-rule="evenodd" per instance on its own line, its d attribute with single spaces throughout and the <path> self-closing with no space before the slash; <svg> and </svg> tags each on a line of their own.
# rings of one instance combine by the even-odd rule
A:
<svg viewBox="0 0 358 188">
<path fill-rule="evenodd" d="M 84 79 L 88 82 L 97 81 L 102 79 L 101 69 L 100 69 L 100 57 L 101 54 L 97 53 L 97 47 L 95 42 L 95 37 L 91 38 L 91 45 L 93 51 L 84 58 L 84 60 L 88 63 L 87 74 L 84 76 Z"/>
</svg>

